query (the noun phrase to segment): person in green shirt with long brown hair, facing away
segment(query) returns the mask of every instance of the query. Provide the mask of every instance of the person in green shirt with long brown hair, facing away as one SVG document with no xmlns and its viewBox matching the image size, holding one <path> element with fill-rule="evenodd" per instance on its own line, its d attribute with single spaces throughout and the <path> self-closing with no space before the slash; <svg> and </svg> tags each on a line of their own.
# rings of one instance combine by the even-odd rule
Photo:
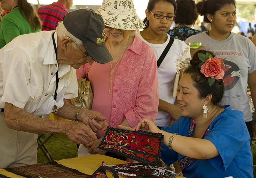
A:
<svg viewBox="0 0 256 178">
<path fill-rule="evenodd" d="M 41 31 L 41 20 L 27 0 L 1 0 L 1 6 L 10 12 L 1 19 L 0 49 L 16 36 Z"/>
</svg>

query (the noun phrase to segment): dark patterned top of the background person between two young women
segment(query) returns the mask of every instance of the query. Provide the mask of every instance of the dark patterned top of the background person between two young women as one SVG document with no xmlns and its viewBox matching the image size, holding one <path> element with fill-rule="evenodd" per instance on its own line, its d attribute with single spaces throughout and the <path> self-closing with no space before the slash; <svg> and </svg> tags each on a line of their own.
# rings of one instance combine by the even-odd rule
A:
<svg viewBox="0 0 256 178">
<path fill-rule="evenodd" d="M 178 26 L 174 27 L 178 32 L 180 32 L 181 35 L 184 36 L 185 39 L 187 39 L 189 36 L 196 35 L 201 33 L 202 31 L 195 30 L 193 28 L 187 27 L 187 26 Z M 173 29 L 174 29 L 173 28 Z M 172 36 L 174 39 L 179 39 L 184 41 L 174 30 L 169 30 L 167 33 Z"/>
</svg>

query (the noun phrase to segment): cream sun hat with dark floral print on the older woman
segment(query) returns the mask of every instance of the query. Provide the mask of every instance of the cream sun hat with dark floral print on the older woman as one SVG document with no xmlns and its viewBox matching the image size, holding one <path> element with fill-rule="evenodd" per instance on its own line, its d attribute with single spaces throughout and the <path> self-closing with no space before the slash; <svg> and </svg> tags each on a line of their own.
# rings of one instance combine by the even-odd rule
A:
<svg viewBox="0 0 256 178">
<path fill-rule="evenodd" d="M 145 27 L 135 12 L 132 0 L 103 0 L 95 12 L 102 16 L 105 26 L 120 30 L 139 30 Z"/>
</svg>

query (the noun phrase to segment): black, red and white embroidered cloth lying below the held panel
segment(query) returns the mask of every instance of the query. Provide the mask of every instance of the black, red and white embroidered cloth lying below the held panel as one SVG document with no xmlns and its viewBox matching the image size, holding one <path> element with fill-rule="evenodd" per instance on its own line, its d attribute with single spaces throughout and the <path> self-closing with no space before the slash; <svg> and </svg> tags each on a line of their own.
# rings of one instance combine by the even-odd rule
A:
<svg viewBox="0 0 256 178">
<path fill-rule="evenodd" d="M 117 174 L 126 178 L 172 178 L 177 174 L 173 171 L 158 166 L 143 165 L 142 163 L 126 163 L 121 165 L 107 165 L 102 162 L 103 166 L 111 167 Z"/>
</svg>

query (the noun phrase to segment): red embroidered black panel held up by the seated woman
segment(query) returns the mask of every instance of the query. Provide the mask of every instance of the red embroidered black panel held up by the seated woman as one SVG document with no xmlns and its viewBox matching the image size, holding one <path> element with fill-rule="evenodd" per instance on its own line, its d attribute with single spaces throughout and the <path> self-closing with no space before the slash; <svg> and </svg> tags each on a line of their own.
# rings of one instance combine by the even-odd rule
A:
<svg viewBox="0 0 256 178">
<path fill-rule="evenodd" d="M 161 133 L 131 132 L 108 127 L 98 148 L 155 166 L 160 158 L 162 146 Z"/>
</svg>

